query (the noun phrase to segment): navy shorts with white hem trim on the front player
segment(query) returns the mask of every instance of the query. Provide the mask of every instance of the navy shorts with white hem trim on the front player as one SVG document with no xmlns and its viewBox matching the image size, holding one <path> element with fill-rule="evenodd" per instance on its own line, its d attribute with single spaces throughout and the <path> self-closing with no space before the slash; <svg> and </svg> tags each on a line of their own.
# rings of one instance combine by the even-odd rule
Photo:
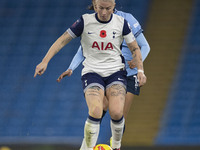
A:
<svg viewBox="0 0 200 150">
<path fill-rule="evenodd" d="M 118 71 L 108 77 L 101 77 L 97 73 L 84 74 L 81 77 L 84 93 L 88 88 L 92 86 L 98 86 L 105 91 L 107 88 L 111 87 L 114 84 L 120 84 L 126 89 L 127 86 L 126 75 L 127 75 L 126 71 Z"/>
</svg>

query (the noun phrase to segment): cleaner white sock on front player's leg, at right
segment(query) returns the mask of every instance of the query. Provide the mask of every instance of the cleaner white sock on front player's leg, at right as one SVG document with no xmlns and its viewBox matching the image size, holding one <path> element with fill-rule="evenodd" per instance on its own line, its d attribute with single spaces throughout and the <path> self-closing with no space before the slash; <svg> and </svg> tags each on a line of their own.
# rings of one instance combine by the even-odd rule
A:
<svg viewBox="0 0 200 150">
<path fill-rule="evenodd" d="M 121 140 L 123 135 L 125 119 L 124 117 L 120 119 L 119 122 L 110 121 L 111 125 L 111 132 L 112 132 L 112 148 L 120 148 L 121 147 Z"/>
</svg>

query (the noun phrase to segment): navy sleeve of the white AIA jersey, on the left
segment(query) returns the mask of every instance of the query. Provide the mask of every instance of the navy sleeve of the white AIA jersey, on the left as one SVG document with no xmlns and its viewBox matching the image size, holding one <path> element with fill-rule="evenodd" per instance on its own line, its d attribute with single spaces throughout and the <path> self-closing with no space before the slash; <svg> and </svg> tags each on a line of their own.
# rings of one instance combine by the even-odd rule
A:
<svg viewBox="0 0 200 150">
<path fill-rule="evenodd" d="M 81 36 L 81 34 L 83 33 L 83 28 L 84 28 L 84 20 L 83 17 L 81 17 L 80 19 L 78 19 L 71 27 L 71 31 L 77 36 Z"/>
</svg>

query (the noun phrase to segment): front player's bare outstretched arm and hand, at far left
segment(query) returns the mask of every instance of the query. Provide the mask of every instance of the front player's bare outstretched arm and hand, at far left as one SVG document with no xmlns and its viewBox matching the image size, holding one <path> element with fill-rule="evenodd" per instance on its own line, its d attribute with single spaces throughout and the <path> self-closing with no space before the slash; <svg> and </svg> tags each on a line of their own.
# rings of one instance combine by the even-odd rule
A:
<svg viewBox="0 0 200 150">
<path fill-rule="evenodd" d="M 53 56 L 57 54 L 71 40 L 72 37 L 67 31 L 63 33 L 63 35 L 61 35 L 49 48 L 42 62 L 36 66 L 34 77 L 36 77 L 37 75 L 42 75 L 45 72 L 48 63 L 53 58 Z"/>
</svg>

